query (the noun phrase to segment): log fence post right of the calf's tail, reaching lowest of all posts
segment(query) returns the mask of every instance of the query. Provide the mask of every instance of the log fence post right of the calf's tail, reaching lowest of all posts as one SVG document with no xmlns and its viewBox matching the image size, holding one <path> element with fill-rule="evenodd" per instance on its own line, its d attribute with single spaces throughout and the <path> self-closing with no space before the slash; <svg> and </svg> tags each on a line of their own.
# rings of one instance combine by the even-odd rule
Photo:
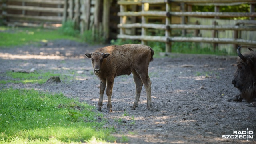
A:
<svg viewBox="0 0 256 144">
<path fill-rule="evenodd" d="M 166 2 L 166 18 L 165 18 L 165 37 L 166 37 L 166 43 L 165 43 L 165 52 L 172 52 L 172 43 L 169 40 L 169 37 L 171 36 L 171 29 L 167 28 L 169 24 L 171 24 L 171 17 L 168 16 L 168 12 L 171 10 L 170 3 Z"/>
</svg>

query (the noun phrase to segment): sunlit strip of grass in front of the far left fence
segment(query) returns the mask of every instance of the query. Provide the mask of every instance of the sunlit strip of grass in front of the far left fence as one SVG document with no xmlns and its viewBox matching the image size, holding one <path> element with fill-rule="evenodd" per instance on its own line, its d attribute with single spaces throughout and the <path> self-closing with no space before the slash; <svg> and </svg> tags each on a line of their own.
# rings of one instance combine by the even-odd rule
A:
<svg viewBox="0 0 256 144">
<path fill-rule="evenodd" d="M 0 47 L 20 46 L 57 39 L 78 40 L 74 36 L 64 35 L 58 30 L 8 27 L 0 27 L 0 39 Z"/>
</svg>

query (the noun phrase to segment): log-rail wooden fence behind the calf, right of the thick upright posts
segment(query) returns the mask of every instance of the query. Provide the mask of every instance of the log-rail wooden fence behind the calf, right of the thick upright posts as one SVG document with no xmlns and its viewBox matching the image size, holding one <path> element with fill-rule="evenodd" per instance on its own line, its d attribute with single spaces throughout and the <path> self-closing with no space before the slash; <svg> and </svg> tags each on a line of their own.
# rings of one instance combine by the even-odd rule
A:
<svg viewBox="0 0 256 144">
<path fill-rule="evenodd" d="M 180 11 L 171 11 L 172 4 L 178 3 L 180 5 Z M 219 6 L 223 5 L 239 5 L 243 3 L 250 4 L 250 12 L 219 12 Z M 120 5 L 120 34 L 117 38 L 121 39 L 132 39 L 141 40 L 142 44 L 147 44 L 147 41 L 158 41 L 166 43 L 166 52 L 171 52 L 172 42 L 206 42 L 212 43 L 213 48 L 216 48 L 218 44 L 233 44 L 235 48 L 240 46 L 256 46 L 256 17 L 255 12 L 255 0 L 120 0 L 118 4 Z M 148 7 L 154 4 L 164 4 L 165 11 L 152 11 Z M 141 6 L 141 11 L 126 11 L 128 6 L 139 5 Z M 214 5 L 215 12 L 192 12 L 192 5 Z M 186 11 L 186 8 L 188 9 Z M 172 24 L 172 17 L 179 16 L 180 24 Z M 141 23 L 127 23 L 128 17 L 141 17 Z M 149 23 L 148 19 L 150 17 L 162 17 L 165 18 L 165 24 L 154 24 Z M 237 20 L 234 21 L 233 25 L 220 25 L 218 20 L 220 18 L 236 18 L 236 17 L 249 17 L 249 20 Z M 190 19 L 197 20 L 193 23 Z M 209 25 L 204 25 L 200 21 L 201 19 L 209 18 L 212 23 Z M 200 24 L 201 23 L 201 24 Z M 199 25 L 200 24 L 200 25 Z M 129 35 L 126 34 L 126 29 L 140 28 L 140 35 Z M 147 32 L 149 29 L 164 30 L 164 36 L 150 36 Z M 171 33 L 175 29 L 182 30 L 181 36 L 172 36 Z M 186 37 L 186 30 L 193 30 L 194 36 Z M 211 36 L 201 37 L 199 33 L 202 34 L 202 30 L 210 30 Z M 218 31 L 232 31 L 233 37 L 218 37 Z M 242 38 L 239 36 L 242 32 L 253 32 L 252 38 Z"/>
</svg>

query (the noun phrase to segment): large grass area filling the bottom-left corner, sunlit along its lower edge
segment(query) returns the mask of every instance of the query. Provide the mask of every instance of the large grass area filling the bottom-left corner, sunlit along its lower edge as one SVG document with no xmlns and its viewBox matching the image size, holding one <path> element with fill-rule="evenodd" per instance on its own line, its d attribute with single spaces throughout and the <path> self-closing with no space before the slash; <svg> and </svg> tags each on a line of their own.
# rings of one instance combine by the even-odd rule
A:
<svg viewBox="0 0 256 144">
<path fill-rule="evenodd" d="M 63 94 L 27 89 L 0 91 L 0 143 L 114 142 L 95 107 Z"/>
</svg>

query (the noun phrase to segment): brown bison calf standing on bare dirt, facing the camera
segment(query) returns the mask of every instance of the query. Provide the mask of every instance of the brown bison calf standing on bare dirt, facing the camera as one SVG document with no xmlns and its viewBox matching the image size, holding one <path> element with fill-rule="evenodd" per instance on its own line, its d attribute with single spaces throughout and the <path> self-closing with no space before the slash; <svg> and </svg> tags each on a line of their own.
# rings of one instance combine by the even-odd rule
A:
<svg viewBox="0 0 256 144">
<path fill-rule="evenodd" d="M 120 75 L 133 74 L 136 86 L 136 96 L 131 110 L 138 106 L 140 92 L 144 84 L 147 93 L 147 109 L 151 107 L 151 81 L 148 76 L 148 65 L 153 60 L 154 51 L 149 46 L 141 44 L 125 44 L 121 46 L 107 46 L 86 53 L 92 60 L 94 74 L 100 79 L 100 98 L 98 110 L 101 110 L 103 93 L 107 86 L 108 96 L 107 112 L 112 111 L 111 95 L 114 78 Z"/>
</svg>

